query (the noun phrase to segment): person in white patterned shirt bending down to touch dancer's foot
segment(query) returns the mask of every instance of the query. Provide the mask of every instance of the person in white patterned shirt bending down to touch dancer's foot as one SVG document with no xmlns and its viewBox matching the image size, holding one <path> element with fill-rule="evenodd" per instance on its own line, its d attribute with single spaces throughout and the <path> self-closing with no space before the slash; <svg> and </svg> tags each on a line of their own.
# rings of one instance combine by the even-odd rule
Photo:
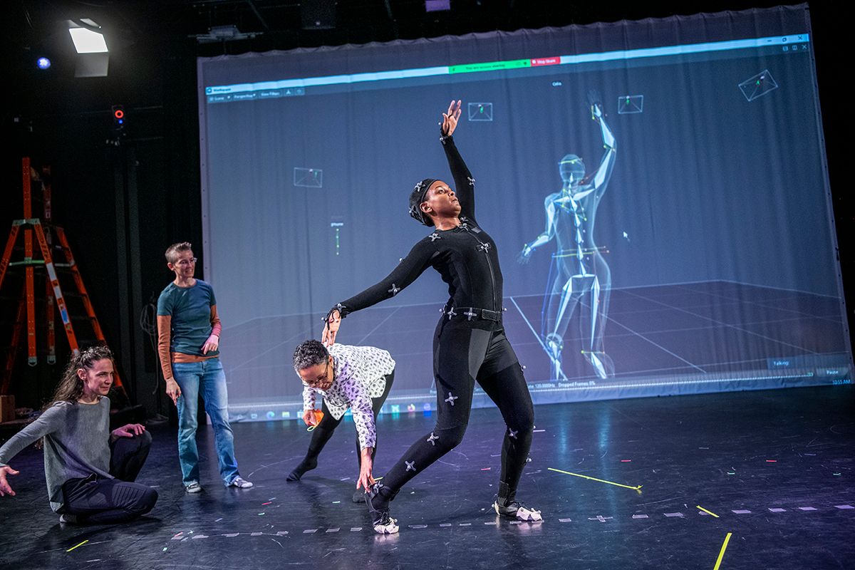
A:
<svg viewBox="0 0 855 570">
<path fill-rule="evenodd" d="M 386 350 L 373 346 L 333 344 L 325 347 L 316 340 L 307 340 L 294 350 L 294 370 L 303 380 L 303 420 L 315 426 L 309 450 L 304 460 L 288 475 L 288 481 L 298 481 L 303 474 L 317 467 L 318 455 L 335 428 L 341 423 L 347 408 L 351 408 L 357 426 L 357 461 L 359 478 L 353 502 L 364 501 L 365 491 L 374 483 L 371 470 L 377 452 L 377 430 L 374 420 L 395 379 L 395 361 Z M 323 396 L 323 416 L 315 418 L 315 392 Z"/>
</svg>

